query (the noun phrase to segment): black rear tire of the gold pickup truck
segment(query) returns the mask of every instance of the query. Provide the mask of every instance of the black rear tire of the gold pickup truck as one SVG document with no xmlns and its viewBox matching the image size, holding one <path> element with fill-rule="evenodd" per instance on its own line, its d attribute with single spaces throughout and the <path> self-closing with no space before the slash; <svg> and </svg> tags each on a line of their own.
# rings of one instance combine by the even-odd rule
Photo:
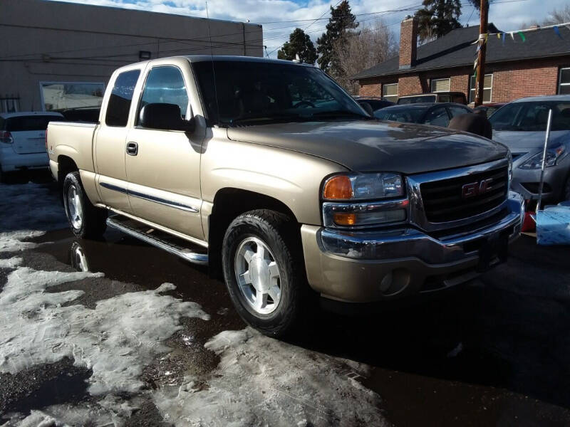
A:
<svg viewBox="0 0 570 427">
<path fill-rule="evenodd" d="M 73 190 L 72 190 L 73 189 Z M 77 195 L 78 204 L 81 206 L 81 221 L 73 221 L 68 194 L 74 191 Z M 107 211 L 93 206 L 89 201 L 81 184 L 79 172 L 70 172 L 63 180 L 63 208 L 73 234 L 78 238 L 98 239 L 105 233 L 107 228 Z M 72 209 L 70 211 L 70 209 Z"/>
</svg>

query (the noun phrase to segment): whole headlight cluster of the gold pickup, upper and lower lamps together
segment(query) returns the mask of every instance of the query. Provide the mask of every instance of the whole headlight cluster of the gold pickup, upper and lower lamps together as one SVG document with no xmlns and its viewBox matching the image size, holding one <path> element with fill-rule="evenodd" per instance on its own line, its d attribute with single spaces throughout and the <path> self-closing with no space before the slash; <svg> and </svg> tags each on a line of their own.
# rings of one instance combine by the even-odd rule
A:
<svg viewBox="0 0 570 427">
<path fill-rule="evenodd" d="M 409 205 L 403 195 L 403 178 L 399 174 L 331 176 L 323 185 L 323 224 L 333 228 L 361 228 L 403 223 Z"/>
</svg>

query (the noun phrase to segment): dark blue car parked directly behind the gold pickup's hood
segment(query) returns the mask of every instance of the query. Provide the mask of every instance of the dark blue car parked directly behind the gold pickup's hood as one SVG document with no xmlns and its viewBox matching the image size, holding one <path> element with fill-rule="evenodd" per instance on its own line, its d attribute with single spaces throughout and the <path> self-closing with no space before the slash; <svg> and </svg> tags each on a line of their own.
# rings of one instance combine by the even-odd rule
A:
<svg viewBox="0 0 570 427">
<path fill-rule="evenodd" d="M 374 117 L 380 120 L 393 120 L 395 122 L 421 123 L 423 125 L 434 125 L 447 127 L 452 117 L 460 114 L 473 112 L 470 107 L 455 104 L 452 102 L 442 102 L 433 104 L 423 102 L 420 104 L 394 105 L 385 107 L 375 112 Z"/>
</svg>

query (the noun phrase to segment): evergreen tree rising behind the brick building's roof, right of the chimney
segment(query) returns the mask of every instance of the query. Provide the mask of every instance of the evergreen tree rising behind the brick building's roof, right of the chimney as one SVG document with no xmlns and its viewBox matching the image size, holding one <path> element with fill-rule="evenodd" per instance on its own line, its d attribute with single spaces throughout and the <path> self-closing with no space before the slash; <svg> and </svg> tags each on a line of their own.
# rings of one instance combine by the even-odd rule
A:
<svg viewBox="0 0 570 427">
<path fill-rule="evenodd" d="M 461 28 L 460 0 L 423 0 L 423 9 L 415 12 L 418 18 L 420 41 L 430 41 Z"/>
</svg>

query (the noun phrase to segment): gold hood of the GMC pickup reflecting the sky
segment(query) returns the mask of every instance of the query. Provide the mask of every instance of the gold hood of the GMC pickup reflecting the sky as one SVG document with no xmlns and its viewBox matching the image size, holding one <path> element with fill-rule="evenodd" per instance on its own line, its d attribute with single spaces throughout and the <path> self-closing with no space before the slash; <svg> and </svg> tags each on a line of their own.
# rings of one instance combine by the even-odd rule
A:
<svg viewBox="0 0 570 427">
<path fill-rule="evenodd" d="M 311 154 L 356 172 L 416 174 L 492 162 L 507 155 L 502 144 L 465 132 L 375 120 L 230 127 L 227 136 Z"/>
</svg>

